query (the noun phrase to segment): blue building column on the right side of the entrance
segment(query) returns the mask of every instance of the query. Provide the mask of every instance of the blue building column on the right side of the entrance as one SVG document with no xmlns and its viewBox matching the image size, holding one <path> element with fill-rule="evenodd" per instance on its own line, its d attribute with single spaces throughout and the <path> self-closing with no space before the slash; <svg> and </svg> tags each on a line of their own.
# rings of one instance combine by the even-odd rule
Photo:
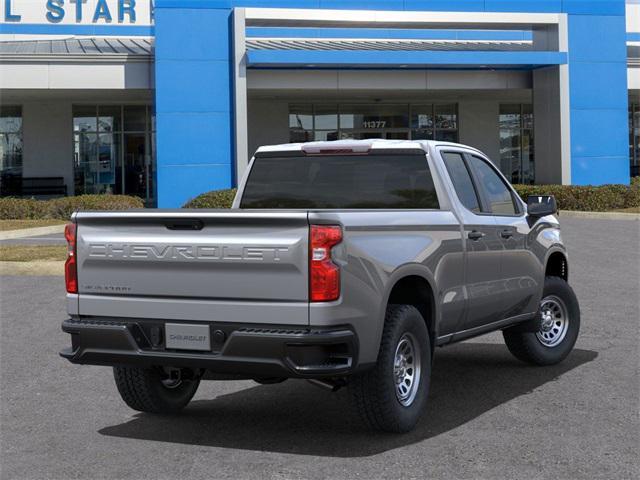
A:
<svg viewBox="0 0 640 480">
<path fill-rule="evenodd" d="M 624 9 L 570 14 L 569 47 L 572 183 L 629 184 Z"/>
</svg>

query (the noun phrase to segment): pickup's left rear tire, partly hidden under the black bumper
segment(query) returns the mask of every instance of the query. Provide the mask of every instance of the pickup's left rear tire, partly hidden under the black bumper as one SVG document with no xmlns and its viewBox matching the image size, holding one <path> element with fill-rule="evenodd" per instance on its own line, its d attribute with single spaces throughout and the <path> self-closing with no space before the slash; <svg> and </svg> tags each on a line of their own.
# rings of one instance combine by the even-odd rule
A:
<svg viewBox="0 0 640 480">
<path fill-rule="evenodd" d="M 113 376 L 122 400 L 134 410 L 148 413 L 179 412 L 200 385 L 199 379 L 168 383 L 159 367 L 113 367 Z"/>
</svg>

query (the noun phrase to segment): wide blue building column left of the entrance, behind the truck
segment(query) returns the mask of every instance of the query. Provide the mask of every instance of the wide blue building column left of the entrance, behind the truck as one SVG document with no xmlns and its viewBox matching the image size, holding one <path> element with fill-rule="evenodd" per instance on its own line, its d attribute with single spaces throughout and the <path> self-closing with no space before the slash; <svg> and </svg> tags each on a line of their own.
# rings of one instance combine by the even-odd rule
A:
<svg viewBox="0 0 640 480">
<path fill-rule="evenodd" d="M 178 208 L 234 184 L 232 9 L 156 2 L 155 30 L 158 207 Z"/>
</svg>

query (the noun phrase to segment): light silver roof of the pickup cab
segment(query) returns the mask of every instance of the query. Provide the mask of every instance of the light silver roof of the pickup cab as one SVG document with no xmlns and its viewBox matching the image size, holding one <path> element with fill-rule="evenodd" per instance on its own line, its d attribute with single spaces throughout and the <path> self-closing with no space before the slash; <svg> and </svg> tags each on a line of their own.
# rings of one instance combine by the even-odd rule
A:
<svg viewBox="0 0 640 480">
<path fill-rule="evenodd" d="M 307 142 L 307 143 L 284 143 L 281 145 L 265 145 L 256 151 L 256 153 L 273 153 L 273 152 L 317 152 L 336 151 L 336 150 L 353 150 L 356 152 L 367 152 L 376 149 L 419 149 L 427 152 L 430 146 L 450 145 L 456 147 L 465 147 L 477 150 L 476 148 L 462 145 L 460 143 L 443 142 L 439 140 L 384 140 L 381 138 L 371 138 L 367 140 L 332 140 L 327 142 Z"/>
</svg>

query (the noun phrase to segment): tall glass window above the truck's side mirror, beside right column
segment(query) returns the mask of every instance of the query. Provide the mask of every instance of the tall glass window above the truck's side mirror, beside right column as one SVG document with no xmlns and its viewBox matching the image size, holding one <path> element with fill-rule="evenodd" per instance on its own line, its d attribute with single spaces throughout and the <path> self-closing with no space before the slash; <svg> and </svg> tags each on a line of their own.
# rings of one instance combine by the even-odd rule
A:
<svg viewBox="0 0 640 480">
<path fill-rule="evenodd" d="M 502 104 L 500 125 L 500 170 L 513 183 L 535 180 L 533 151 L 533 106 Z"/>
</svg>

